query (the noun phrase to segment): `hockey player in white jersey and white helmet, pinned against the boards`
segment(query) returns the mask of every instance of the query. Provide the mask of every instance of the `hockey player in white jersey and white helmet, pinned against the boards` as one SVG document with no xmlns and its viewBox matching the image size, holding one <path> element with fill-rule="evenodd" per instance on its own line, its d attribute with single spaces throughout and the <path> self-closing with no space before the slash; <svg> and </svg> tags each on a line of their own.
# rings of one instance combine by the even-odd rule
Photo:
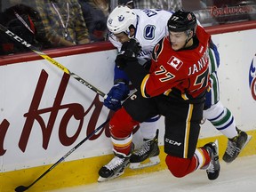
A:
<svg viewBox="0 0 256 192">
<path fill-rule="evenodd" d="M 122 2 L 125 4 L 125 1 Z M 132 1 L 129 1 L 129 3 L 131 2 Z M 168 34 L 166 23 L 167 20 L 170 19 L 172 12 L 166 13 L 163 10 L 156 11 L 148 9 L 130 10 L 121 6 L 119 8 L 116 7 L 116 9 L 113 10 L 108 17 L 108 30 L 111 34 L 111 36 L 109 36 L 109 40 L 116 46 L 118 51 L 120 51 L 124 42 L 129 41 L 132 37 L 136 38 L 141 46 L 141 50 L 137 58 L 140 64 L 143 64 L 143 60 L 145 62 L 145 59 L 149 59 L 149 54 L 152 52 L 154 45 Z M 129 13 L 130 16 L 128 16 Z M 119 20 L 120 15 L 124 16 L 124 20 Z M 137 18 L 137 20 L 135 18 Z M 137 25 L 135 23 L 137 23 Z M 197 24 L 200 25 L 198 20 Z M 149 36 L 151 38 L 148 38 Z M 235 116 L 233 116 L 232 111 L 226 108 L 220 101 L 220 86 L 217 72 L 220 66 L 220 55 L 217 46 L 213 44 L 212 41 L 210 43 L 209 56 L 209 73 L 212 89 L 210 92 L 207 92 L 205 96 L 204 119 L 210 121 L 219 132 L 228 138 L 228 147 L 226 148 L 222 159 L 226 163 L 231 163 L 251 140 L 252 136 L 247 135 L 246 132 L 236 127 L 236 119 Z M 122 98 L 127 96 L 125 95 L 125 84 L 124 82 L 120 83 L 120 80 L 126 82 L 130 82 L 130 80 L 126 74 L 121 71 L 122 70 L 115 68 L 115 85 L 112 87 L 110 92 L 108 92 L 108 98 L 104 100 L 104 105 L 110 109 L 118 106 L 121 107 Z M 126 87 L 128 86 L 126 85 Z M 133 151 L 130 158 L 130 167 L 132 169 L 159 162 L 159 149 L 158 151 L 156 150 L 157 134 L 156 136 L 154 134 L 158 128 L 156 124 L 157 118 L 154 117 L 153 119 L 155 119 L 155 121 L 152 121 L 152 118 L 150 118 L 148 122 L 140 124 L 140 132 L 146 141 L 140 148 Z M 113 138 L 112 142 L 115 146 L 116 142 Z M 145 164 L 143 161 L 148 157 L 150 161 L 147 161 L 147 164 Z"/>
</svg>

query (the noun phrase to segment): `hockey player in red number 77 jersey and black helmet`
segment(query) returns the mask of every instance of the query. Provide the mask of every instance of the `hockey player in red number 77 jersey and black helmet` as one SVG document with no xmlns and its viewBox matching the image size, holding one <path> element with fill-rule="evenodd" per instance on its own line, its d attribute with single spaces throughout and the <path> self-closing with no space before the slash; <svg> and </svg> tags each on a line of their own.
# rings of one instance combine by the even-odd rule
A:
<svg viewBox="0 0 256 192">
<path fill-rule="evenodd" d="M 175 177 L 184 177 L 197 169 L 206 169 L 209 180 L 219 176 L 218 143 L 196 148 L 203 118 L 204 96 L 209 89 L 208 45 L 210 36 L 197 27 L 192 12 L 178 11 L 168 20 L 169 36 L 156 44 L 150 72 L 136 59 L 138 43 L 131 39 L 122 46 L 116 66 L 129 76 L 138 92 L 125 100 L 123 108 L 110 120 L 111 137 L 120 140 L 114 146 L 115 161 L 103 166 L 102 180 L 124 172 L 129 163 L 134 125 L 158 114 L 165 117 L 165 162 Z M 126 138 L 124 140 L 124 138 Z"/>
</svg>

